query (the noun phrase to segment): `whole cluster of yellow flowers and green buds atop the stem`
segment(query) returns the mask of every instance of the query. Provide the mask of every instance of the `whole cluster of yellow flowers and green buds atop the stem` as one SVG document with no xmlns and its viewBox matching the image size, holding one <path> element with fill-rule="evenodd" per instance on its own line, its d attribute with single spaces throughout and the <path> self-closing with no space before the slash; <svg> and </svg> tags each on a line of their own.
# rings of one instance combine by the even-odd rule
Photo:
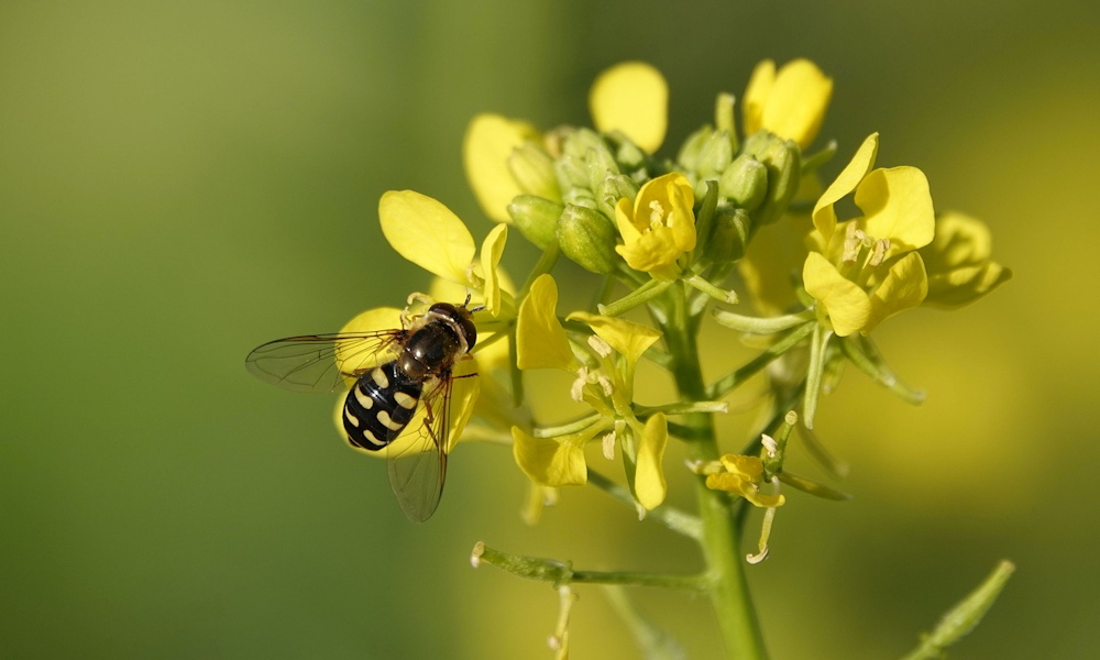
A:
<svg viewBox="0 0 1100 660">
<path fill-rule="evenodd" d="M 832 79 L 809 61 L 763 62 L 743 96 L 740 130 L 735 97 L 719 94 L 713 123 L 689 135 L 672 157 L 660 155 L 668 85 L 642 63 L 597 77 L 591 129 L 540 131 L 479 116 L 465 136 L 464 165 L 479 204 L 497 222 L 480 255 L 442 204 L 407 190 L 383 196 L 380 216 L 391 245 L 437 276 L 428 299 L 469 293 L 485 308 L 475 316 L 480 336 L 491 338 L 475 349 L 482 395 L 460 402 L 455 418 L 463 425 L 473 418 L 477 437 L 510 441 L 519 469 L 539 488 L 586 483 L 585 449 L 598 444 L 608 459 L 622 457 L 629 492 L 645 512 L 664 502 L 670 437 L 693 441 L 690 425 L 673 420 L 724 410 L 725 394 L 769 363 L 783 369 L 770 375 L 768 432 L 800 402 L 801 424 L 812 428 L 823 378 L 843 361 L 904 394 L 867 336 L 906 309 L 972 302 L 1011 273 L 990 261 L 980 221 L 936 217 L 920 169 L 876 168 L 877 133 L 826 185 L 821 172 L 840 150 L 828 143 L 814 151 L 814 144 L 832 94 Z M 858 211 L 851 217 L 839 210 L 849 196 Z M 543 252 L 519 289 L 499 267 L 510 229 Z M 559 311 L 550 271 L 561 257 L 603 278 L 592 307 Z M 758 315 L 722 307 L 741 297 Z M 649 323 L 622 318 L 637 308 Z M 374 314 L 348 330 L 362 330 L 377 320 Z M 765 336 L 769 348 L 724 378 L 696 382 L 694 338 L 707 316 Z M 672 374 L 676 400 L 636 400 L 642 360 Z M 570 374 L 573 385 L 562 396 L 588 413 L 554 425 L 536 418 L 522 374 L 547 369 Z M 781 459 L 774 464 L 774 457 L 755 455 L 761 449 L 750 441 L 744 453 L 711 457 L 696 472 L 706 466 L 700 473 L 708 488 L 778 507 L 784 497 L 761 494 L 759 486 L 782 477 Z M 784 481 L 832 493 L 801 477 Z"/>
</svg>

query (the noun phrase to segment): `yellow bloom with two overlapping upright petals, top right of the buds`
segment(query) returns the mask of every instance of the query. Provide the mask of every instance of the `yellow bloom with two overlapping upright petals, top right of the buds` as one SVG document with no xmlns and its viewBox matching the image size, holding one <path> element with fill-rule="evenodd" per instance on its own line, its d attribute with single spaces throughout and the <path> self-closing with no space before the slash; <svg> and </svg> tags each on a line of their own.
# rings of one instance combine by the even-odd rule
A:
<svg viewBox="0 0 1100 660">
<path fill-rule="evenodd" d="M 776 72 L 765 59 L 749 78 L 743 103 L 745 134 L 771 131 L 803 151 L 817 136 L 833 96 L 833 79 L 809 59 L 794 59 Z"/>
</svg>

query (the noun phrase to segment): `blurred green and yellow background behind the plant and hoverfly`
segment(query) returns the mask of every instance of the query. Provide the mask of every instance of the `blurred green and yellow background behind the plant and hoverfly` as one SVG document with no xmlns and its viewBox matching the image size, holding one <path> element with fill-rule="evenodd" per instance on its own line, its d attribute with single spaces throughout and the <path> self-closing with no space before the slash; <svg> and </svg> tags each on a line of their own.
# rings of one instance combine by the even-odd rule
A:
<svg viewBox="0 0 1100 660">
<path fill-rule="evenodd" d="M 697 568 L 591 490 L 524 526 L 496 447 L 455 452 L 411 525 L 332 397 L 243 359 L 426 288 L 381 238 L 384 190 L 484 235 L 461 169 L 474 113 L 582 123 L 592 78 L 642 58 L 678 144 L 759 59 L 796 56 L 836 81 L 823 138 L 850 155 L 880 131 L 879 164 L 987 220 L 1015 278 L 877 332 L 924 406 L 855 372 L 824 402 L 856 498 L 791 496 L 748 569 L 772 654 L 900 656 L 1009 558 L 953 657 L 1097 657 L 1098 23 L 1084 0 L 0 2 L 0 657 L 550 658 L 556 595 L 472 570 L 475 541 Z M 572 657 L 636 657 L 580 594 Z M 705 601 L 639 602 L 719 656 Z"/>
</svg>

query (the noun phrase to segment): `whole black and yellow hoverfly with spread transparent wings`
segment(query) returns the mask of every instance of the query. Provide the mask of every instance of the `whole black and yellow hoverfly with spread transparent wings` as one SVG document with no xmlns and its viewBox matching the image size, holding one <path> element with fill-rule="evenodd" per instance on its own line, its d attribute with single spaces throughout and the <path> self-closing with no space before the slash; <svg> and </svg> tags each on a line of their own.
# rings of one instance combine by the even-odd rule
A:
<svg viewBox="0 0 1100 660">
<path fill-rule="evenodd" d="M 348 442 L 387 451 L 397 502 L 422 522 L 443 492 L 454 365 L 477 341 L 471 315 L 481 308 L 469 302 L 436 302 L 407 327 L 403 317 L 399 329 L 279 339 L 249 353 L 245 365 L 261 381 L 295 392 L 334 392 L 353 381 L 342 409 Z M 406 427 L 416 436 L 411 443 L 391 446 Z"/>
</svg>

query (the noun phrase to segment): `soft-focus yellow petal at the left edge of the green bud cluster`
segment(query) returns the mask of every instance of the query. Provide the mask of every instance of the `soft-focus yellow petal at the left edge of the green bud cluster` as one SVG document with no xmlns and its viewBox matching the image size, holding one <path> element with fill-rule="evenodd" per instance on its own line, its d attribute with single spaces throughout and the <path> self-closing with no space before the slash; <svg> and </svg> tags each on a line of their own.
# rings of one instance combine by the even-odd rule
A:
<svg viewBox="0 0 1100 660">
<path fill-rule="evenodd" d="M 512 176 L 508 157 L 524 142 L 540 139 L 531 124 L 499 114 L 479 114 L 471 120 L 462 144 L 462 161 L 477 204 L 493 220 L 512 222 L 508 205 L 522 193 Z"/>
</svg>

